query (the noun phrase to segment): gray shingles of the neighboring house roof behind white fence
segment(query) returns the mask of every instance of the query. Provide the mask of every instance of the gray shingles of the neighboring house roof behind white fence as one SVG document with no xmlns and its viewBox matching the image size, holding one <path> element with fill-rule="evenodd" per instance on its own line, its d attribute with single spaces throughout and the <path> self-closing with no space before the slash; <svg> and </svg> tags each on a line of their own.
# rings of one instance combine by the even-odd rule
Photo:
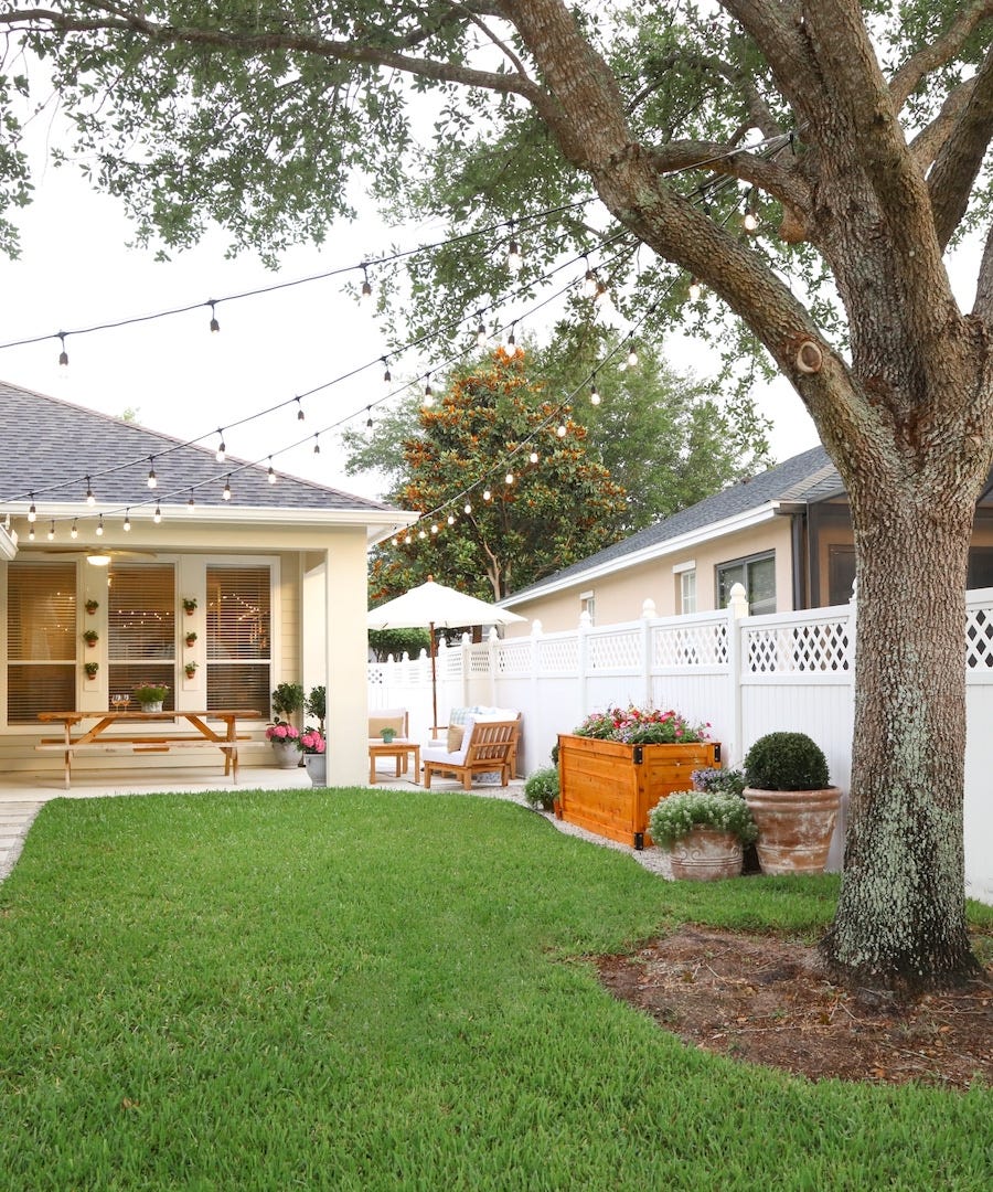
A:
<svg viewBox="0 0 993 1192">
<path fill-rule="evenodd" d="M 770 501 L 824 499 L 826 496 L 843 491 L 840 477 L 828 459 L 827 452 L 820 446 L 812 447 L 809 451 L 801 452 L 801 454 L 777 464 L 776 467 L 759 472 L 758 476 L 747 480 L 732 484 L 731 488 L 722 489 L 695 505 L 681 509 L 679 513 L 666 517 L 665 521 L 646 526 L 645 529 L 638 530 L 629 538 L 613 542 L 602 551 L 597 551 L 596 554 L 563 567 L 561 571 L 556 571 L 538 583 L 511 592 L 501 603 L 516 603 L 528 595 L 536 594 L 548 584 L 558 584 L 571 577 L 578 578 L 584 572 L 603 564 L 620 561 L 627 554 L 637 554 L 648 547 L 659 546 L 669 539 L 690 534 L 714 522 L 747 513 L 750 509 L 758 509 Z"/>
</svg>

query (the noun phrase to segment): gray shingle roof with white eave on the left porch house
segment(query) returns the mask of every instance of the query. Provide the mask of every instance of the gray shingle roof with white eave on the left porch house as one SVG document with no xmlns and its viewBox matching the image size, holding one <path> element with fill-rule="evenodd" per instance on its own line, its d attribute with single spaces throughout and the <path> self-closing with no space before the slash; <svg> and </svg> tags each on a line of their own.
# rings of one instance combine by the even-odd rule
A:
<svg viewBox="0 0 993 1192">
<path fill-rule="evenodd" d="M 77 504 L 86 493 L 87 476 L 100 505 L 132 510 L 159 499 L 162 505 L 185 505 L 191 493 L 197 509 L 248 508 L 253 510 L 337 514 L 329 521 L 372 523 L 401 521 L 411 515 L 378 501 L 356 497 L 277 468 L 278 482 L 268 483 L 268 467 L 187 446 L 184 440 L 87 410 L 60 398 L 0 381 L 0 417 L 6 432 L 0 441 L 0 515 L 12 503 L 21 513 L 29 493 L 42 507 Z M 157 488 L 148 488 L 154 466 Z M 231 499 L 223 499 L 230 478 Z M 396 516 L 395 516 L 396 515 Z"/>
</svg>

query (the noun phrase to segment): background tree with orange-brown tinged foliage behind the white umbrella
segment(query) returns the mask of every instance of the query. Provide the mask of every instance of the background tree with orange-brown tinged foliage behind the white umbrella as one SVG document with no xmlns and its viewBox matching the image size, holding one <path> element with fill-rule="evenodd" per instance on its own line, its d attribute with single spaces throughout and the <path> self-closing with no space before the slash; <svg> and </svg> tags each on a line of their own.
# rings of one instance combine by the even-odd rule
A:
<svg viewBox="0 0 993 1192">
<path fill-rule="evenodd" d="M 389 496 L 430 516 L 374 552 L 376 603 L 429 575 L 498 600 L 616 536 L 623 489 L 590 458 L 585 428 L 528 380 L 525 360 L 497 348 L 420 408 Z M 496 477 L 495 460 L 509 461 Z"/>
</svg>

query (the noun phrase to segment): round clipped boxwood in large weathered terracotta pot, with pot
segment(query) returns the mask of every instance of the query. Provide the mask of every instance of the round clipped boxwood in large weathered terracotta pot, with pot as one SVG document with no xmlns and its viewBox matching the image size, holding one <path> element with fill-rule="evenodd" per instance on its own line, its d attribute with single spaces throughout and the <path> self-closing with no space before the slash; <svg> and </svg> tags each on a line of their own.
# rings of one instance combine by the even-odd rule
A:
<svg viewBox="0 0 993 1192">
<path fill-rule="evenodd" d="M 767 733 L 745 755 L 745 782 L 762 871 L 824 873 L 842 793 L 820 746 L 806 733 Z"/>
</svg>

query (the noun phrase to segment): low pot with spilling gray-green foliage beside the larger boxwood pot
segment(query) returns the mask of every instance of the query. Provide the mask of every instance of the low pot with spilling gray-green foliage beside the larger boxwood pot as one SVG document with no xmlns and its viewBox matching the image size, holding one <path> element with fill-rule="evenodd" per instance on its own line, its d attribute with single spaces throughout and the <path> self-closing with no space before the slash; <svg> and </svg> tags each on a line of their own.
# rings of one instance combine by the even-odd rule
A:
<svg viewBox="0 0 993 1192">
<path fill-rule="evenodd" d="M 726 790 L 684 790 L 648 812 L 656 844 L 668 849 L 672 876 L 691 881 L 737 877 L 744 845 L 758 834 L 747 803 Z"/>
</svg>

